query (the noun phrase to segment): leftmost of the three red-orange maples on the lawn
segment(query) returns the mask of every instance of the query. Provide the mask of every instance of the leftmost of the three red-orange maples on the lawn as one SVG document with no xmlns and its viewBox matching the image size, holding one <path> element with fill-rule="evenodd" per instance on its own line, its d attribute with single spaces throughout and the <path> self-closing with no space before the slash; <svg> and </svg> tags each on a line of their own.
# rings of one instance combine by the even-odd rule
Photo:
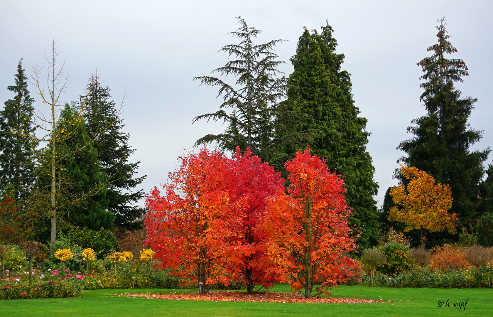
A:
<svg viewBox="0 0 493 317">
<path fill-rule="evenodd" d="M 211 284 L 238 279 L 228 268 L 237 268 L 244 254 L 244 208 L 242 201 L 230 203 L 231 160 L 221 152 L 204 148 L 179 159 L 179 170 L 163 185 L 165 194 L 154 187 L 146 195 L 145 243 L 161 267 L 197 281 L 202 295 Z"/>
</svg>

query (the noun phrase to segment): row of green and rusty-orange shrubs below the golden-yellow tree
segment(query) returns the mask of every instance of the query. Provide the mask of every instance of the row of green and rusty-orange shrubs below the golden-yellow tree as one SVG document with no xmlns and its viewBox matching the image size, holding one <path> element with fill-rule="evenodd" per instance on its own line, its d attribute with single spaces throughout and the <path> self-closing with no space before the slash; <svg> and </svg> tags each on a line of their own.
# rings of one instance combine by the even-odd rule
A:
<svg viewBox="0 0 493 317">
<path fill-rule="evenodd" d="M 387 235 L 388 236 L 388 235 Z M 402 232 L 390 231 L 379 247 L 365 249 L 361 275 L 347 284 L 385 287 L 491 288 L 493 247 L 444 244 L 410 248 Z"/>
</svg>

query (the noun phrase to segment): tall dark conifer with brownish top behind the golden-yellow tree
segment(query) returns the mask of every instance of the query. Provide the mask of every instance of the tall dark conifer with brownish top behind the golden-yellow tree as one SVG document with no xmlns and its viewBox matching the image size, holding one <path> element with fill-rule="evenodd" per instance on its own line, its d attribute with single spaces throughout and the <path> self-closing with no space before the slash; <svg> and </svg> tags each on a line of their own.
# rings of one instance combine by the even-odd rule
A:
<svg viewBox="0 0 493 317">
<path fill-rule="evenodd" d="M 425 80 L 420 86 L 424 88 L 420 101 L 427 114 L 411 121 L 415 126 L 408 127 L 408 132 L 416 137 L 402 141 L 397 149 L 407 153 L 399 160 L 406 166 L 417 167 L 438 183 L 451 186 L 454 201 L 450 212 L 457 212 L 459 227 L 470 230 L 481 216 L 479 183 L 490 149 L 469 150 L 483 135 L 471 129 L 468 123 L 477 99 L 462 97 L 454 87 L 454 83 L 462 82 L 462 77 L 468 73 L 463 60 L 446 58 L 457 49 L 448 41 L 450 35 L 445 26 L 445 18 L 438 20 L 438 42 L 427 49 L 433 55 L 418 63 L 424 73 L 420 79 Z M 444 238 L 457 239 L 446 235 L 436 234 L 432 238 L 436 243 L 443 243 Z M 430 243 L 432 246 L 435 242 Z"/>
</svg>

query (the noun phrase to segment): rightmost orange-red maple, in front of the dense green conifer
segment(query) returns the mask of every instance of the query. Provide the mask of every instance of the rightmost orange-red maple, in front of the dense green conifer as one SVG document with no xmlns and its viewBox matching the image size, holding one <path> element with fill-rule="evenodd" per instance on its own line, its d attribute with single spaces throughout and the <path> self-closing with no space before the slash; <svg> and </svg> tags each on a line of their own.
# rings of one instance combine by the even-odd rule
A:
<svg viewBox="0 0 493 317">
<path fill-rule="evenodd" d="M 325 162 L 310 155 L 310 148 L 299 150 L 285 163 L 291 173 L 288 194 L 278 190 L 268 199 L 265 230 L 271 234 L 270 252 L 291 288 L 305 298 L 346 281 L 358 266 L 343 255 L 356 249 L 344 180 L 330 173 Z"/>
</svg>

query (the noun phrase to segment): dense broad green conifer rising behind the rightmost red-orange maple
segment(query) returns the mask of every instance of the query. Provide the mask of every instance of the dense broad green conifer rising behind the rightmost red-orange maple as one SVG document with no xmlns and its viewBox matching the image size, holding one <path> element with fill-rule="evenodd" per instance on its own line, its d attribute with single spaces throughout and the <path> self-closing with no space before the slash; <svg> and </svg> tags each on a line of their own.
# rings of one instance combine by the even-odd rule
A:
<svg viewBox="0 0 493 317">
<path fill-rule="evenodd" d="M 310 131 L 313 152 L 345 177 L 346 200 L 352 208 L 352 223 L 357 225 L 355 233 L 361 233 L 357 242 L 362 249 L 378 242 L 378 211 L 373 199 L 378 184 L 366 151 L 367 120 L 358 116 L 359 108 L 354 106 L 350 73 L 341 70 L 344 54 L 335 53 L 337 41 L 332 32 L 327 21 L 320 34 L 305 28 L 300 36 L 296 55 L 290 60 L 294 71 L 287 83 L 287 105 L 308 114 L 309 119 L 297 124 L 297 130 Z M 288 151 L 294 153 L 304 145 Z"/>
</svg>

